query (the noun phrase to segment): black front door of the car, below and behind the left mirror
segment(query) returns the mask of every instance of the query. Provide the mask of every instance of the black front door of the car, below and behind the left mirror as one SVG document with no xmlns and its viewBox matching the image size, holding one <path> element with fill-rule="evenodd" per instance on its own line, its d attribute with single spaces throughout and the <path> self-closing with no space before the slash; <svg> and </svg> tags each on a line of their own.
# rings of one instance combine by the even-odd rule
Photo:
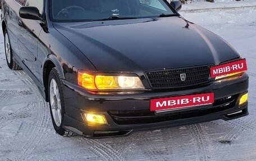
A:
<svg viewBox="0 0 256 161">
<path fill-rule="evenodd" d="M 33 6 L 43 13 L 44 0 L 20 0 L 26 1 L 25 6 Z M 42 31 L 40 21 L 18 18 L 19 35 L 18 45 L 22 62 L 39 80 L 38 73 L 38 37 Z"/>
</svg>

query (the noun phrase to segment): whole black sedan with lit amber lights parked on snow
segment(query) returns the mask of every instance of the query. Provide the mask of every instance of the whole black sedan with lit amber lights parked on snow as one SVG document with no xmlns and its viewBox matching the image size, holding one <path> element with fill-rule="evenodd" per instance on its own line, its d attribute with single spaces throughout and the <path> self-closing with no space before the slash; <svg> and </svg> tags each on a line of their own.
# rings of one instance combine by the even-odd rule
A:
<svg viewBox="0 0 256 161">
<path fill-rule="evenodd" d="M 180 16 L 180 1 L 3 0 L 2 8 L 7 65 L 34 80 L 62 136 L 248 114 L 248 75 L 210 74 L 242 58 Z"/>
</svg>

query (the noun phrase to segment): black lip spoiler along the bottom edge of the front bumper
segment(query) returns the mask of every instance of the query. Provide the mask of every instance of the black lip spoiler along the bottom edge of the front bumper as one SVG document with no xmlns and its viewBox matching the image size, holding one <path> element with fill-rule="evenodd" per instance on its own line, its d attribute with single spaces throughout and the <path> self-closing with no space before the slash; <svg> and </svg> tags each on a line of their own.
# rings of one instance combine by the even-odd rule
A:
<svg viewBox="0 0 256 161">
<path fill-rule="evenodd" d="M 231 115 L 230 115 L 231 114 Z M 84 132 L 77 130 L 74 127 L 71 126 L 63 126 L 66 130 L 72 131 L 77 135 L 86 137 L 86 138 L 92 138 L 92 139 L 104 139 L 106 137 L 120 137 L 120 136 L 128 136 L 132 134 L 133 132 L 138 131 L 145 131 L 145 130 L 157 130 L 162 129 L 166 127 L 176 127 L 181 125 L 193 125 L 195 123 L 202 123 L 202 122 L 208 122 L 208 121 L 214 121 L 217 119 L 223 119 L 224 121 L 229 121 L 231 119 L 236 119 L 244 116 L 248 116 L 248 103 L 245 103 L 239 108 L 231 108 L 226 111 L 223 111 L 221 113 L 213 113 L 208 114 L 205 116 L 199 116 L 199 117 L 192 117 L 192 118 L 185 118 L 185 119 L 179 119 L 179 120 L 172 120 L 172 121 L 165 121 L 165 122 L 157 122 L 157 123 L 142 123 L 139 125 L 125 125 L 125 126 L 118 126 L 118 127 L 95 127 L 95 130 L 90 131 L 90 134 L 84 134 Z M 74 118 L 68 117 L 65 115 L 65 121 L 66 122 L 73 122 L 81 124 L 81 126 L 85 126 L 84 123 L 81 123 L 79 121 L 76 121 Z M 111 134 L 111 131 L 115 131 L 117 135 L 94 135 L 95 131 L 109 131 Z M 119 132 L 116 132 L 119 131 Z"/>
</svg>

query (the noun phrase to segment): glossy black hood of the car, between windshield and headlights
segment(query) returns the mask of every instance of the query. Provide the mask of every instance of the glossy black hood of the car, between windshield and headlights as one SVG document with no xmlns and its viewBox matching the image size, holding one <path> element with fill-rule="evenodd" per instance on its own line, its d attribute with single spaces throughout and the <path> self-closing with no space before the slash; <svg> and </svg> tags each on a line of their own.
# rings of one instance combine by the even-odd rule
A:
<svg viewBox="0 0 256 161">
<path fill-rule="evenodd" d="M 219 36 L 181 16 L 55 22 L 54 27 L 103 72 L 218 65 L 239 57 Z"/>
</svg>

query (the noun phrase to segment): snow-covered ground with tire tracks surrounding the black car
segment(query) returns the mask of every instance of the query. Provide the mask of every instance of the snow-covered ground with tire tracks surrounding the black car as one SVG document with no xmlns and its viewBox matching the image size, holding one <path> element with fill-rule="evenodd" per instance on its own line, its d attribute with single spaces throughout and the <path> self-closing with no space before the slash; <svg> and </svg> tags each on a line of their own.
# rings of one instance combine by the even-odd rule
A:
<svg viewBox="0 0 256 161">
<path fill-rule="evenodd" d="M 33 81 L 24 71 L 8 69 L 0 31 L 0 160 L 256 160 L 256 11 L 181 14 L 222 36 L 246 58 L 249 116 L 127 137 L 61 137 Z"/>
</svg>

